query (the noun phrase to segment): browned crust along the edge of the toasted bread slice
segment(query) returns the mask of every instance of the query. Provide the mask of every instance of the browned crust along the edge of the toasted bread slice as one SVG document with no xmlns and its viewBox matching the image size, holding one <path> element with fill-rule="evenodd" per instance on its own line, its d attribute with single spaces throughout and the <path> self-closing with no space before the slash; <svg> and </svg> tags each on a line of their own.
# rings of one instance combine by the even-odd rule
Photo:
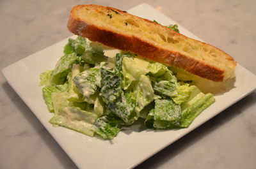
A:
<svg viewBox="0 0 256 169">
<path fill-rule="evenodd" d="M 207 64 L 206 62 L 190 57 L 189 55 L 180 54 L 179 52 L 175 52 L 175 51 L 163 48 L 161 46 L 154 45 L 152 43 L 149 43 L 148 41 L 141 40 L 136 36 L 129 36 L 123 33 L 116 33 L 115 31 L 104 29 L 87 20 L 81 20 L 81 18 L 78 18 L 76 17 L 76 15 L 74 15 L 74 10 L 79 10 L 79 7 L 81 6 L 74 7 L 70 12 L 70 17 L 67 23 L 67 27 L 70 32 L 77 34 L 78 36 L 86 37 L 91 41 L 98 41 L 109 47 L 118 48 L 124 51 L 134 52 L 152 61 L 161 62 L 168 66 L 177 66 L 178 68 L 182 68 L 183 70 L 186 70 L 189 73 L 193 73 L 195 75 L 198 75 L 199 77 L 207 78 L 215 82 L 221 82 L 224 80 L 225 70 L 222 70 L 221 68 L 218 68 L 211 64 Z M 108 8 L 109 10 L 115 10 L 120 13 L 124 13 L 125 15 L 131 15 L 129 13 L 118 10 L 116 8 L 104 7 L 104 6 L 99 6 L 99 7 Z M 153 24 L 156 24 L 150 20 L 147 20 L 144 18 L 142 19 L 145 20 L 146 22 L 151 22 Z M 164 27 L 164 29 L 168 29 L 168 28 Z M 179 34 L 179 36 L 180 35 L 181 34 Z M 181 35 L 181 36 L 184 36 L 184 35 Z M 187 38 L 187 37 L 184 36 L 184 38 Z M 220 50 L 218 48 L 216 49 Z M 225 52 L 223 53 L 225 54 Z M 234 61 L 234 59 L 229 55 L 226 56 L 226 59 L 229 59 L 230 61 Z M 236 64 L 236 62 L 234 62 L 234 64 Z"/>
</svg>

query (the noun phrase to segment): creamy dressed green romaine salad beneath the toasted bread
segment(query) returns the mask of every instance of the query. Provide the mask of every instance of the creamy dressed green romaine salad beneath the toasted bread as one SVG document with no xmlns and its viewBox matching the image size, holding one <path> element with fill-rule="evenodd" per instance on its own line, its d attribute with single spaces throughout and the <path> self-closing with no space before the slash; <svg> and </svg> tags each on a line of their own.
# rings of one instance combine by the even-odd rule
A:
<svg viewBox="0 0 256 169">
<path fill-rule="evenodd" d="M 188 128 L 215 101 L 193 82 L 177 79 L 175 68 L 131 52 L 107 55 L 108 50 L 86 38 L 70 38 L 56 67 L 41 73 L 53 126 L 104 139 L 140 118 L 149 129 Z"/>
</svg>

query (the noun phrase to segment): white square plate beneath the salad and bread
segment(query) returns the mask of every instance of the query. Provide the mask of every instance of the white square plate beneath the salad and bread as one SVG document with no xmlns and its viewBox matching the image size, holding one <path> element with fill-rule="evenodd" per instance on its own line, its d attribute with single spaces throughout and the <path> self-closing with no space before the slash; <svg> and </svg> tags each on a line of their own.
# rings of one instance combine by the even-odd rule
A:
<svg viewBox="0 0 256 169">
<path fill-rule="evenodd" d="M 157 20 L 163 25 L 175 24 L 173 20 L 148 4 L 135 6 L 129 10 L 129 13 L 149 20 Z M 179 29 L 182 34 L 198 39 L 183 27 L 179 26 Z M 216 102 L 202 112 L 189 128 L 152 131 L 143 129 L 140 123 L 137 123 L 130 130 L 118 133 L 112 141 L 91 138 L 70 129 L 52 127 L 48 122 L 52 114 L 48 113 L 42 98 L 42 87 L 38 85 L 40 73 L 54 68 L 63 55 L 63 47 L 66 43 L 67 39 L 7 66 L 3 69 L 3 75 L 79 168 L 132 168 L 244 98 L 256 88 L 255 75 L 237 65 L 235 87 L 216 96 Z"/>
</svg>

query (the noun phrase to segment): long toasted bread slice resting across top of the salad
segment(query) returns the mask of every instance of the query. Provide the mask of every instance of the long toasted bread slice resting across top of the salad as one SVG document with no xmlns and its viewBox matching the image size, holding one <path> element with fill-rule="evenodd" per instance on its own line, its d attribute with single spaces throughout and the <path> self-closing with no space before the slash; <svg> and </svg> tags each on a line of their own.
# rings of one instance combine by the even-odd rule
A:
<svg viewBox="0 0 256 169">
<path fill-rule="evenodd" d="M 67 27 L 91 41 L 131 51 L 215 82 L 234 77 L 236 62 L 222 50 L 116 8 L 75 6 Z"/>
</svg>

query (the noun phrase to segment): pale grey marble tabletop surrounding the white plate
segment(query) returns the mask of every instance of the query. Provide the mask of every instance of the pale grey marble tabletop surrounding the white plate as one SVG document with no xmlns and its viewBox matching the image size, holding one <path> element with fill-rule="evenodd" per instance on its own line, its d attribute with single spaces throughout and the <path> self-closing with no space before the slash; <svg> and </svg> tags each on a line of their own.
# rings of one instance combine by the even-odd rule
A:
<svg viewBox="0 0 256 169">
<path fill-rule="evenodd" d="M 68 12 L 93 3 L 128 10 L 145 1 L 0 1 L 0 70 L 71 35 Z M 256 74 L 253 0 L 148 0 Z M 0 74 L 0 168 L 77 168 Z M 256 84 L 255 84 L 256 85 Z M 256 168 L 256 92 L 136 168 Z"/>
</svg>

